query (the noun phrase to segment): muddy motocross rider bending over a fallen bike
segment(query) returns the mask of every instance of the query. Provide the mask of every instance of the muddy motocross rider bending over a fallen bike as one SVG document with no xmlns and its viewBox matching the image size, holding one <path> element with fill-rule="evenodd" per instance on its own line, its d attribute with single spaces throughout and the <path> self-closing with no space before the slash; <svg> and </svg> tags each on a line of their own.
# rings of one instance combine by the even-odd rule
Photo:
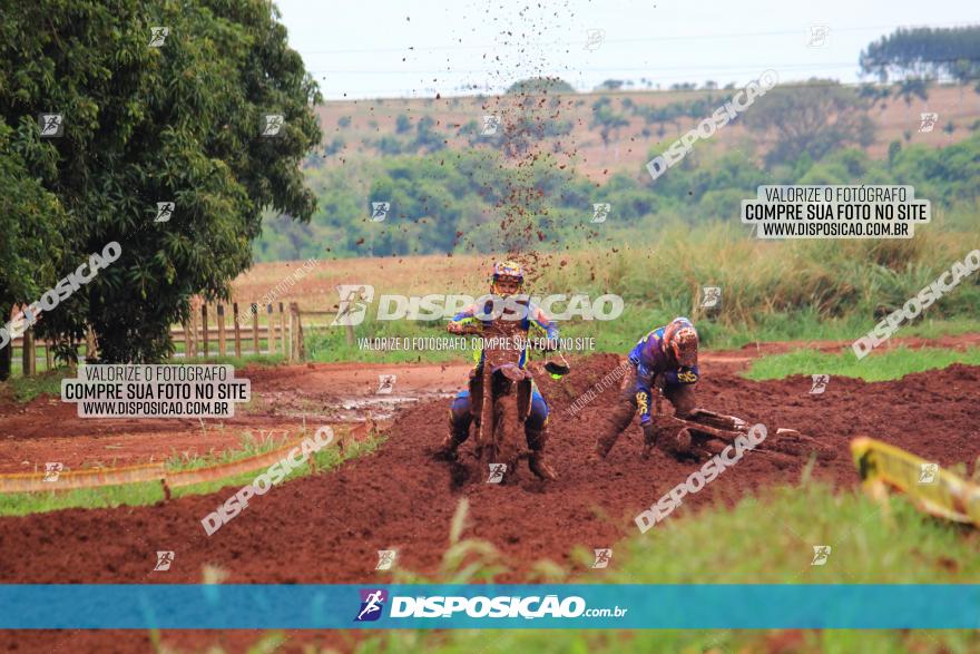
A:
<svg viewBox="0 0 980 654">
<path fill-rule="evenodd" d="M 650 456 L 657 440 L 657 428 L 650 416 L 656 411 L 653 387 L 663 388 L 677 418 L 686 418 L 694 410 L 697 342 L 697 331 L 686 318 L 675 318 L 637 341 L 629 352 L 630 365 L 623 378 L 619 403 L 609 416 L 606 431 L 596 439 L 594 459 L 606 458 L 637 412 L 644 431 L 643 457 Z"/>
</svg>

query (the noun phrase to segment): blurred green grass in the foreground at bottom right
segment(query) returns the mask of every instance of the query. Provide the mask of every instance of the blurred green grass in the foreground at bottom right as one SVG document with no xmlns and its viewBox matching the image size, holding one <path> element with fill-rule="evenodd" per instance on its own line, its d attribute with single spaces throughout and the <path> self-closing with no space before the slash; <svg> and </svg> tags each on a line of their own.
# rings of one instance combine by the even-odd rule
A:
<svg viewBox="0 0 980 654">
<path fill-rule="evenodd" d="M 737 472 L 736 472 L 737 474 Z M 830 545 L 814 567 L 814 545 Z M 587 563 L 591 557 L 584 558 Z M 766 489 L 735 507 L 683 509 L 650 533 L 614 545 L 614 565 L 556 582 L 609 584 L 962 584 L 980 558 L 962 526 L 893 496 L 804 484 Z M 450 577 L 447 577 L 448 582 Z M 440 579 L 443 580 L 443 579 Z M 954 652 L 980 651 L 967 629 L 512 629 L 389 632 L 357 652 Z"/>
</svg>

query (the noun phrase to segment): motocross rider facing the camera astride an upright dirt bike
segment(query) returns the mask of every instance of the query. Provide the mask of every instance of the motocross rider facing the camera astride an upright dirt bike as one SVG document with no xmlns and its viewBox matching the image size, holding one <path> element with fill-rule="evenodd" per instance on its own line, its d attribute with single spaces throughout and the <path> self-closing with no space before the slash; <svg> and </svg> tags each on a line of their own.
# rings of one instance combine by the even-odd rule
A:
<svg viewBox="0 0 980 654">
<path fill-rule="evenodd" d="M 493 264 L 490 291 L 497 296 L 507 299 L 511 295 L 520 295 L 523 289 L 523 270 L 520 264 L 513 261 L 497 262 Z M 520 331 L 523 332 L 526 339 L 547 339 L 557 346 L 558 326 L 548 318 L 543 311 L 536 304 L 527 302 L 527 314 L 520 319 Z M 490 319 L 478 318 L 478 306 L 476 303 L 470 304 L 461 312 L 455 314 L 449 323 L 451 333 L 462 333 L 468 325 L 480 324 L 481 321 L 490 322 Z M 480 313 L 487 313 L 486 309 Z M 482 374 L 483 352 L 477 353 L 478 362 L 473 370 L 470 371 L 470 379 L 474 377 L 479 379 Z M 527 365 L 528 352 L 525 349 L 521 352 L 521 368 Z M 479 417 L 476 417 L 479 418 Z M 470 423 L 473 422 L 472 402 L 470 400 L 470 390 L 463 389 L 457 394 L 449 409 L 449 435 L 442 441 L 440 453 L 448 458 L 455 457 L 457 449 L 470 435 Z M 558 479 L 555 469 L 550 466 L 545 457 L 545 446 L 548 443 L 548 404 L 545 398 L 538 391 L 537 384 L 532 388 L 531 409 L 525 420 L 525 437 L 528 441 L 528 449 L 531 451 L 529 466 L 531 471 L 542 479 Z"/>
</svg>

